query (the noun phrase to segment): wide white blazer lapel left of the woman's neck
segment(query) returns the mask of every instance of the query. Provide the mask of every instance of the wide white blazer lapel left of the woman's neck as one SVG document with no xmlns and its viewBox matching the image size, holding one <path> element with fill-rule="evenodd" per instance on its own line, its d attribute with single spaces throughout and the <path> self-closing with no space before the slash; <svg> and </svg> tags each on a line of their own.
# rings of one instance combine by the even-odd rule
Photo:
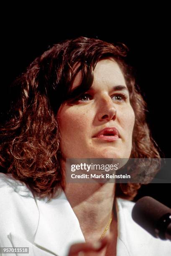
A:
<svg viewBox="0 0 171 256">
<path fill-rule="evenodd" d="M 85 242 L 79 221 L 64 192 L 47 202 L 37 200 L 39 222 L 34 243 L 60 256 L 67 255 L 73 243 Z"/>
</svg>

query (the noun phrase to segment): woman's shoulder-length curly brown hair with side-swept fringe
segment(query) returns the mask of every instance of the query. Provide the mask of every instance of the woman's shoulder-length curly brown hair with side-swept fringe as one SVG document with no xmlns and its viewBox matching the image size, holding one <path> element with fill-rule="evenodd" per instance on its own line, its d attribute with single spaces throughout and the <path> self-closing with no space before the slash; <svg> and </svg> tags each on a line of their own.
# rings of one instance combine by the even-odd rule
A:
<svg viewBox="0 0 171 256">
<path fill-rule="evenodd" d="M 100 59 L 112 57 L 123 72 L 135 112 L 131 158 L 160 158 L 145 120 L 146 105 L 125 63 L 127 47 L 79 37 L 55 44 L 36 58 L 15 84 L 8 120 L 0 129 L 1 172 L 25 182 L 39 197 L 53 197 L 64 187 L 60 132 L 56 114 L 61 104 L 86 92 Z M 79 67 L 77 67 L 79 63 Z M 81 84 L 71 90 L 78 72 Z M 132 199 L 140 184 L 116 184 L 116 195 Z"/>
</svg>

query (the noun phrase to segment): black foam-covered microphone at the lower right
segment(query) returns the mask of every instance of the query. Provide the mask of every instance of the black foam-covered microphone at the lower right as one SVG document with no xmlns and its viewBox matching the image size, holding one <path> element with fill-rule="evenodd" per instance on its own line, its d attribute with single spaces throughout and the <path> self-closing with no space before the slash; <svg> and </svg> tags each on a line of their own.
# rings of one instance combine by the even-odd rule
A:
<svg viewBox="0 0 171 256">
<path fill-rule="evenodd" d="M 152 197 L 142 197 L 132 210 L 133 220 L 152 236 L 171 241 L 171 209 Z"/>
</svg>

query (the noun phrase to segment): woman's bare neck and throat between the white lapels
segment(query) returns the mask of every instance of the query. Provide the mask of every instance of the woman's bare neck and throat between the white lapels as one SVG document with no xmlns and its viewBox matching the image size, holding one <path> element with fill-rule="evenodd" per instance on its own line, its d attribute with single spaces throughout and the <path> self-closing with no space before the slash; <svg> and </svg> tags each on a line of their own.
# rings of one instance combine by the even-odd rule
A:
<svg viewBox="0 0 171 256">
<path fill-rule="evenodd" d="M 111 215 L 116 220 L 112 210 L 115 184 L 68 183 L 65 194 L 87 241 L 100 238 Z"/>
</svg>

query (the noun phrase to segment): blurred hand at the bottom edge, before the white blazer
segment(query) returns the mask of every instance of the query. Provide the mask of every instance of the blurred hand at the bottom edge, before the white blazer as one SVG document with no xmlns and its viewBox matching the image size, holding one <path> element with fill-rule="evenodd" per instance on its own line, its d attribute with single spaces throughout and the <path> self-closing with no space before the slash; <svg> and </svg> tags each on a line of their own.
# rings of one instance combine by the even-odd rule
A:
<svg viewBox="0 0 171 256">
<path fill-rule="evenodd" d="M 98 255 L 102 249 L 107 246 L 111 241 L 110 236 L 106 236 L 100 241 L 94 243 L 74 243 L 70 249 L 68 256 L 89 256 L 89 255 Z"/>
</svg>

